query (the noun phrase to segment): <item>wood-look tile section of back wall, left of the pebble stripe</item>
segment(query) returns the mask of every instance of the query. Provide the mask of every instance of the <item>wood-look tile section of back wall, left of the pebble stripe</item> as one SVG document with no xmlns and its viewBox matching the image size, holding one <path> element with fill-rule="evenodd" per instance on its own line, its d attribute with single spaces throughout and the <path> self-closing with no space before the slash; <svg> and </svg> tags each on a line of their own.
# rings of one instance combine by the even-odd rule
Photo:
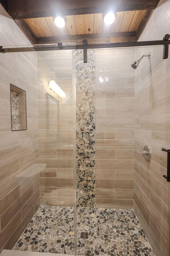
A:
<svg viewBox="0 0 170 256">
<path fill-rule="evenodd" d="M 38 52 L 37 68 L 41 205 L 73 206 L 73 102 L 48 88 L 55 80 L 73 98 L 72 50 Z"/>
</svg>

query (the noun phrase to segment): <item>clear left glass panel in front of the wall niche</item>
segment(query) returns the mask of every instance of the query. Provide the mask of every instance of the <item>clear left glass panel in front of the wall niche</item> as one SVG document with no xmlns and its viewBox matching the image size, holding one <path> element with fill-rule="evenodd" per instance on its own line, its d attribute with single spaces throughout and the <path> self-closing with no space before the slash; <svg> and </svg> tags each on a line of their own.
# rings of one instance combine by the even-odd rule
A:
<svg viewBox="0 0 170 256">
<path fill-rule="evenodd" d="M 74 49 L 73 44 L 66 47 Z M 4 48 L 9 52 L 1 56 L 2 95 L 5 101 L 10 99 L 10 84 L 26 92 L 27 130 L 12 131 L 14 145 L 5 147 L 8 153 L 1 161 L 0 253 L 3 248 L 74 255 L 72 49 L 36 52 L 32 46 L 20 46 L 23 51 L 12 52 L 16 46 Z M 18 100 L 11 101 L 17 109 Z M 4 129 L 6 133 L 6 125 Z"/>
</svg>

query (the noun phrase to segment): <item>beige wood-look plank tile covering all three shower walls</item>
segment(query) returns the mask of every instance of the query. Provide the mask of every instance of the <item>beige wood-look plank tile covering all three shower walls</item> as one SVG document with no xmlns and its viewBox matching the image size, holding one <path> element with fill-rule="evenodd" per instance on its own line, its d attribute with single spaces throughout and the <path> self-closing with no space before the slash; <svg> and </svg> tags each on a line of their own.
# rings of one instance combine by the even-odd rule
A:
<svg viewBox="0 0 170 256">
<path fill-rule="evenodd" d="M 141 41 L 168 33 L 169 10 L 169 1 L 161 0 Z M 0 44 L 29 44 L 1 6 L 0 12 Z M 135 72 L 129 63 L 148 51 L 151 59 Z M 162 55 L 159 47 L 96 50 L 96 207 L 134 207 L 156 256 L 167 256 L 169 218 L 161 148 L 170 146 L 170 58 Z M 73 105 L 48 89 L 55 79 L 73 93 L 72 53 L 39 52 L 38 60 L 35 53 L 2 54 L 0 70 L 1 250 L 12 249 L 39 207 L 40 194 L 42 205 L 73 206 Z M 100 76 L 108 81 L 101 83 Z M 26 90 L 27 131 L 11 132 L 10 83 Z M 47 93 L 59 99 L 59 115 Z M 140 155 L 145 144 L 152 149 L 148 163 Z"/>
</svg>

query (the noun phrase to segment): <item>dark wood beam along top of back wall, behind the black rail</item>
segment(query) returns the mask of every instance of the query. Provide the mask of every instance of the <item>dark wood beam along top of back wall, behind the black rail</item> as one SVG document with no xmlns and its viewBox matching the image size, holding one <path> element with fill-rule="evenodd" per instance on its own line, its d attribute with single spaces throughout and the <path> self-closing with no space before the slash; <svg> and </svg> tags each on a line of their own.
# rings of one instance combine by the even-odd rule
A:
<svg viewBox="0 0 170 256">
<path fill-rule="evenodd" d="M 88 34 L 76 36 L 56 36 L 56 37 L 37 37 L 37 44 L 56 44 L 75 43 L 81 45 L 83 39 L 88 40 L 88 44 L 105 44 L 105 43 L 118 43 L 118 42 L 135 42 L 135 32 L 121 32 L 121 33 L 103 33 L 103 34 Z"/>
</svg>

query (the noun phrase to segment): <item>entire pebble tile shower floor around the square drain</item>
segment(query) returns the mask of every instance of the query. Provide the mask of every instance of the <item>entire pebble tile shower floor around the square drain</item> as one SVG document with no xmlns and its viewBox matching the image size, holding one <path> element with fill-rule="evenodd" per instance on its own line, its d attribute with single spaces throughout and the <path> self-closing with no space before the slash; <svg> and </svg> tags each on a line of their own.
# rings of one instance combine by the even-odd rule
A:
<svg viewBox="0 0 170 256">
<path fill-rule="evenodd" d="M 77 255 L 154 256 L 133 210 L 78 208 L 77 245 Z M 73 255 L 74 208 L 40 206 L 14 250 Z"/>
</svg>

